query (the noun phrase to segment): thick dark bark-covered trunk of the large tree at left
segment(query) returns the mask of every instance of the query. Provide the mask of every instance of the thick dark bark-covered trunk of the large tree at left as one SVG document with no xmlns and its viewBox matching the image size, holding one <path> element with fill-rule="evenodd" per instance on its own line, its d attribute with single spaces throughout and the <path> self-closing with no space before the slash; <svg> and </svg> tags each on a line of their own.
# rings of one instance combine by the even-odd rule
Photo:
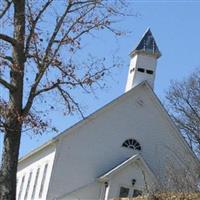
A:
<svg viewBox="0 0 200 200">
<path fill-rule="evenodd" d="M 0 200 L 16 199 L 16 173 L 22 131 L 25 0 L 13 0 L 14 34 L 17 43 L 13 46 L 13 66 L 10 69 L 9 108 L 5 119 L 4 147 L 0 171 Z"/>
</svg>

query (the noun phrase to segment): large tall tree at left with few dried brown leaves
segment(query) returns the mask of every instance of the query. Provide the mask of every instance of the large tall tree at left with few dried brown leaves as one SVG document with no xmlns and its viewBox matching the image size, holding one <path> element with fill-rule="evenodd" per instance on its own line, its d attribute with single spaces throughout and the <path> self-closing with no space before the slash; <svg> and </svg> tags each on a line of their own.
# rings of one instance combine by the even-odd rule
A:
<svg viewBox="0 0 200 200">
<path fill-rule="evenodd" d="M 126 5 L 121 0 L 1 0 L 0 6 L 0 199 L 14 200 L 22 131 L 42 133 L 50 127 L 46 110 L 57 105 L 48 101 L 50 95 L 62 100 L 65 113 L 83 115 L 74 89 L 90 93 L 110 67 L 94 57 L 80 63 L 74 55 L 92 31 L 121 35 L 113 23 Z"/>
</svg>

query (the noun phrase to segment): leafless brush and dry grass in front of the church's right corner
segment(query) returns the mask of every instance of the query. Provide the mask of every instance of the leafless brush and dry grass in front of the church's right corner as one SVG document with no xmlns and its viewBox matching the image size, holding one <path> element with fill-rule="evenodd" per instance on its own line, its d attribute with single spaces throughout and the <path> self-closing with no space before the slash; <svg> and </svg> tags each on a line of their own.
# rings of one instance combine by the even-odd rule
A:
<svg viewBox="0 0 200 200">
<path fill-rule="evenodd" d="M 172 150 L 172 149 L 171 149 Z M 198 199 L 200 195 L 199 171 L 197 165 L 179 150 L 172 150 L 166 157 L 164 168 L 156 174 L 156 181 L 147 182 L 143 172 L 145 183 L 144 195 L 147 200 L 161 199 Z"/>
</svg>

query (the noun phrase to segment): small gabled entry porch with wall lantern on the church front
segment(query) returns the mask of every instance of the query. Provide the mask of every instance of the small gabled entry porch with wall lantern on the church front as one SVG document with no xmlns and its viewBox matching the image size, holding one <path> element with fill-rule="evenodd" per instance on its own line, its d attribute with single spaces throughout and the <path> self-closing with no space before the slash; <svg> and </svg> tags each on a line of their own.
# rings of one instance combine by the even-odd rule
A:
<svg viewBox="0 0 200 200">
<path fill-rule="evenodd" d="M 100 177 L 100 180 L 109 183 L 108 199 L 119 197 L 121 187 L 128 188 L 130 195 L 135 189 L 145 193 L 156 187 L 155 176 L 139 155 L 129 158 L 115 170 Z"/>
</svg>

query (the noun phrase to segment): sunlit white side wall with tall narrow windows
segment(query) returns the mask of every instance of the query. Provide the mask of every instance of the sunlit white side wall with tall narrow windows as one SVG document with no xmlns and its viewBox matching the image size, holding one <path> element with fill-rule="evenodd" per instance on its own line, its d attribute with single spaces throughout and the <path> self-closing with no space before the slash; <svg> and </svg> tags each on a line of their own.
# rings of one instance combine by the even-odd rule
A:
<svg viewBox="0 0 200 200">
<path fill-rule="evenodd" d="M 19 163 L 18 173 L 17 173 L 17 179 L 18 179 L 17 195 L 16 195 L 17 200 L 30 200 L 30 199 L 44 200 L 46 199 L 48 185 L 49 185 L 53 162 L 54 162 L 54 156 L 55 156 L 55 147 L 53 148 L 48 147 L 47 149 L 44 149 L 42 152 L 40 152 L 40 154 L 34 155 L 28 158 L 27 160 L 24 160 L 21 163 Z M 39 198 L 42 177 L 44 174 L 44 169 L 45 169 L 46 164 L 48 164 L 46 177 L 44 181 L 42 196 L 41 198 Z M 34 195 L 34 198 L 32 198 L 33 188 L 36 181 L 36 174 L 37 174 L 38 169 L 39 169 L 39 175 L 38 175 L 37 184 L 35 188 L 35 195 Z M 31 176 L 31 180 L 29 184 L 28 193 L 27 195 L 25 195 L 27 186 L 28 186 L 28 179 L 29 179 L 30 173 L 32 173 L 32 176 Z M 23 176 L 25 176 L 25 179 L 24 179 L 25 181 L 23 184 L 23 189 L 22 189 L 20 198 L 19 198 L 20 185 L 21 185 Z"/>
</svg>

